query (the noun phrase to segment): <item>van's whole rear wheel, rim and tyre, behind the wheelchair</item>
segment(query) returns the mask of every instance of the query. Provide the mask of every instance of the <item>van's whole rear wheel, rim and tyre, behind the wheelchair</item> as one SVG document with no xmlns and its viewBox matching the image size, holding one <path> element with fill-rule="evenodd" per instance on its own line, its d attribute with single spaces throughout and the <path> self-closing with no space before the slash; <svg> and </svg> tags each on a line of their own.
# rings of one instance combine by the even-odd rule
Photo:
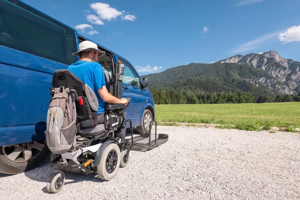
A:
<svg viewBox="0 0 300 200">
<path fill-rule="evenodd" d="M 49 152 L 44 140 L 0 146 L 0 173 L 16 174 L 33 169 Z"/>
</svg>

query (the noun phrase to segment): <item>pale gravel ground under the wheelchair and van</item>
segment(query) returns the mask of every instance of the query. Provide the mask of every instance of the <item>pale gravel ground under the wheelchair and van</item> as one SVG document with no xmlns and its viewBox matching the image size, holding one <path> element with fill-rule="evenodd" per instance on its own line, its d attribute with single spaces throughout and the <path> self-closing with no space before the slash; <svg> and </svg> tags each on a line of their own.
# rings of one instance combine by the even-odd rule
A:
<svg viewBox="0 0 300 200">
<path fill-rule="evenodd" d="M 300 134 L 158 126 L 169 140 L 132 151 L 110 181 L 66 174 L 47 193 L 48 162 L 16 175 L 0 174 L 0 199 L 300 199 Z"/>
</svg>

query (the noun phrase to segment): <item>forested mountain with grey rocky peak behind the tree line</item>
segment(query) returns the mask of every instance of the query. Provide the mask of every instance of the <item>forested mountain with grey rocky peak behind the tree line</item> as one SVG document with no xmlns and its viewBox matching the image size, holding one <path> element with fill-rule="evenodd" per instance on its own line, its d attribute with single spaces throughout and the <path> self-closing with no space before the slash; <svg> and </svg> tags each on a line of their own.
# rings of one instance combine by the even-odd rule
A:
<svg viewBox="0 0 300 200">
<path fill-rule="evenodd" d="M 292 94 L 299 92 L 300 62 L 276 51 L 234 55 L 211 64 L 190 63 L 147 74 L 149 88 L 181 91 Z"/>
</svg>

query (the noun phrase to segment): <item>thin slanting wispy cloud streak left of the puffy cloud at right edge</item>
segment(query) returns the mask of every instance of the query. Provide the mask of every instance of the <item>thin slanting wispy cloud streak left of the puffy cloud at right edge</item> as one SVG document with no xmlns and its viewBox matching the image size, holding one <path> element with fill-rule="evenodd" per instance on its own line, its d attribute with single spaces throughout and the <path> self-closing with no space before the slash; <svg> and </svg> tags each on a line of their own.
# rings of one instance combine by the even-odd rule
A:
<svg viewBox="0 0 300 200">
<path fill-rule="evenodd" d="M 231 52 L 237 53 L 237 52 L 243 52 L 243 51 L 247 51 L 247 50 L 253 50 L 253 49 L 261 46 L 261 44 L 263 42 L 265 42 L 266 40 L 274 38 L 277 34 L 278 34 L 278 32 L 272 32 L 272 33 L 263 35 L 261 37 L 258 37 L 256 39 L 253 39 L 251 41 L 245 42 L 241 45 L 236 46 L 233 50 L 231 50 Z"/>
</svg>

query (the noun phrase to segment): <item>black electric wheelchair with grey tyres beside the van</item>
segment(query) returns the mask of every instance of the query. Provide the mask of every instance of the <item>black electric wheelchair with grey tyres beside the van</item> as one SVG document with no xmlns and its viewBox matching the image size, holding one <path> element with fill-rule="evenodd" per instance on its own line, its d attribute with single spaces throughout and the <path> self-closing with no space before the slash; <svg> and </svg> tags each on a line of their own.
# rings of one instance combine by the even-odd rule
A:
<svg viewBox="0 0 300 200">
<path fill-rule="evenodd" d="M 113 95 L 120 98 L 123 65 L 118 64 Z M 65 181 L 63 171 L 89 174 L 96 172 L 103 180 L 112 179 L 119 167 L 128 164 L 129 151 L 133 147 L 131 120 L 123 117 L 130 103 L 106 104 L 104 123 L 97 124 L 98 101 L 93 90 L 70 71 L 56 70 L 52 78 L 53 88 L 69 88 L 74 96 L 76 110 L 76 136 L 72 148 L 62 154 L 51 153 L 50 166 L 54 169 L 48 177 L 46 189 L 56 193 Z M 50 89 L 51 96 L 54 89 Z M 131 141 L 115 136 L 116 131 L 130 122 Z"/>
</svg>

